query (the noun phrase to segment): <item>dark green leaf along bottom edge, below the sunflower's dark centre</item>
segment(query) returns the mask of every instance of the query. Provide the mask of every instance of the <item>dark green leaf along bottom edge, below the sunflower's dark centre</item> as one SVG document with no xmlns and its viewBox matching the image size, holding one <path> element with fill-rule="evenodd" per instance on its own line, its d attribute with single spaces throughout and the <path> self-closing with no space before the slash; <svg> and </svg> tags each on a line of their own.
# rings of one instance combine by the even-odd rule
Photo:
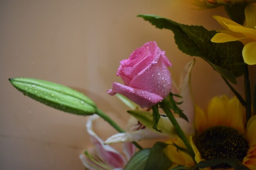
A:
<svg viewBox="0 0 256 170">
<path fill-rule="evenodd" d="M 207 168 L 207 167 L 212 167 L 212 166 L 219 165 L 221 163 L 227 163 L 232 168 L 234 168 L 235 170 L 250 170 L 249 168 L 244 166 L 241 163 L 241 161 L 239 161 L 236 158 L 222 158 L 222 159 L 216 158 L 216 159 L 209 159 L 207 161 L 200 161 L 196 165 L 196 167 L 198 167 L 198 168 Z"/>
</svg>

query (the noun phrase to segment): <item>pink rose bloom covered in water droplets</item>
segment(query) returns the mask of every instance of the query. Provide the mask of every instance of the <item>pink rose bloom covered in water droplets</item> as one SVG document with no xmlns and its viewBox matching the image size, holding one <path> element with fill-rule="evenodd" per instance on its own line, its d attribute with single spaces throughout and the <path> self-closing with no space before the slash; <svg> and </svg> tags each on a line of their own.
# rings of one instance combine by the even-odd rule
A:
<svg viewBox="0 0 256 170">
<path fill-rule="evenodd" d="M 108 94 L 120 93 L 144 108 L 157 104 L 171 92 L 167 66 L 172 64 L 156 42 L 145 43 L 120 64 L 117 76 L 125 85 L 114 82 Z"/>
</svg>

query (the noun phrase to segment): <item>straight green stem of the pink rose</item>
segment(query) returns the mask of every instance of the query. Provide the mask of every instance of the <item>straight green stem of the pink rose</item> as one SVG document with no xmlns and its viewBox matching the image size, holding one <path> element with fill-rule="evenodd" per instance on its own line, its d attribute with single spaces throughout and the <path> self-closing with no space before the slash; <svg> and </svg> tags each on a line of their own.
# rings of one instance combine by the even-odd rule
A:
<svg viewBox="0 0 256 170">
<path fill-rule="evenodd" d="M 186 138 L 186 135 L 184 134 L 184 132 L 182 131 L 182 129 L 180 128 L 180 125 L 178 124 L 177 120 L 175 119 L 173 113 L 171 112 L 170 108 L 168 107 L 168 104 L 166 104 L 166 99 L 163 100 L 163 102 L 160 102 L 160 106 L 162 108 L 162 110 L 164 110 L 164 113 L 166 114 L 166 116 L 168 117 L 168 119 L 171 121 L 171 123 L 173 124 L 173 127 L 175 128 L 175 131 L 177 133 L 177 135 L 180 137 L 180 139 L 182 139 L 182 141 L 184 142 L 189 155 L 192 157 L 192 159 L 195 161 L 195 153 L 191 147 L 191 145 L 189 144 L 189 141 Z M 196 163 L 196 161 L 195 161 Z"/>
</svg>

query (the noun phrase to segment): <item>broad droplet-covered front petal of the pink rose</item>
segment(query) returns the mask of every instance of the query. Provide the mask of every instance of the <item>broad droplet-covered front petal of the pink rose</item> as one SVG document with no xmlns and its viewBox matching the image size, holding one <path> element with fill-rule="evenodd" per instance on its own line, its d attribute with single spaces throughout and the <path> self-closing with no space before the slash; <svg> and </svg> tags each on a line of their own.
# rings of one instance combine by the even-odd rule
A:
<svg viewBox="0 0 256 170">
<path fill-rule="evenodd" d="M 164 98 L 171 92 L 171 73 L 165 66 L 162 57 L 159 58 L 156 64 L 151 64 L 150 67 L 144 73 L 132 79 L 129 86 L 155 93 Z"/>
</svg>

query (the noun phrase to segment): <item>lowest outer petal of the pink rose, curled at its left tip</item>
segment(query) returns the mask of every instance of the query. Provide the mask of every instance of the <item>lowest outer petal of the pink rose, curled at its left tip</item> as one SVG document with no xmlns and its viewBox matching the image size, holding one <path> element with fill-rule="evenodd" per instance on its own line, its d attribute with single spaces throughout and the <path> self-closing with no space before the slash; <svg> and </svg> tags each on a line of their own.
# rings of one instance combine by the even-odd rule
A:
<svg viewBox="0 0 256 170">
<path fill-rule="evenodd" d="M 154 104 L 157 104 L 158 102 L 163 100 L 163 97 L 155 93 L 150 93 L 148 91 L 144 91 L 138 88 L 125 86 L 117 82 L 114 82 L 112 84 L 112 90 L 108 90 L 107 93 L 110 95 L 120 93 L 121 95 L 124 95 L 128 99 L 141 106 L 141 108 L 151 107 Z"/>
</svg>

